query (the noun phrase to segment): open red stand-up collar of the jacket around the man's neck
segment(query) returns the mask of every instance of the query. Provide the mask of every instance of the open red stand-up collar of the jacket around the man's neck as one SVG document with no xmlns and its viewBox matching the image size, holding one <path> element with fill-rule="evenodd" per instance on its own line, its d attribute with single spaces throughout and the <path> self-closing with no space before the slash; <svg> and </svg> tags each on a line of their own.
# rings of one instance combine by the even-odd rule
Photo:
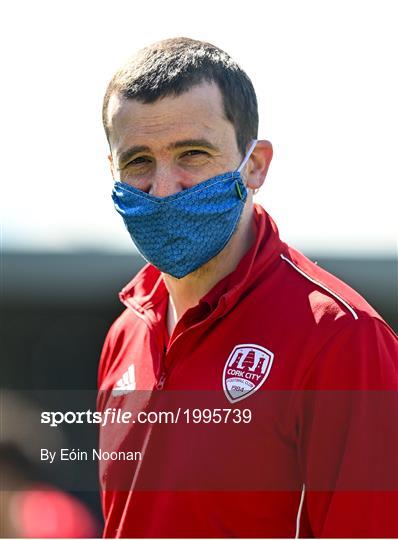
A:
<svg viewBox="0 0 398 540">
<path fill-rule="evenodd" d="M 284 251 L 278 228 L 269 214 L 258 204 L 253 206 L 256 239 L 233 272 L 219 281 L 199 303 L 211 310 L 222 304 L 229 310 L 256 279 L 269 271 L 271 265 Z M 160 271 L 147 264 L 119 293 L 120 300 L 128 307 L 144 314 L 151 311 L 167 297 L 167 289 Z"/>
</svg>

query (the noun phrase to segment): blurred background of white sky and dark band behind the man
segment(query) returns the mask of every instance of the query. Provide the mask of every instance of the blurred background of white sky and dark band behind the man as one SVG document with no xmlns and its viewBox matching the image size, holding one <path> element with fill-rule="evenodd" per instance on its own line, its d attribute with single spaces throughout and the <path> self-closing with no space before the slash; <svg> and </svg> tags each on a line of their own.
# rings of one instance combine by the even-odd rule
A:
<svg viewBox="0 0 398 540">
<path fill-rule="evenodd" d="M 13 0 L 0 9 L 0 464 L 3 489 L 38 493 L 3 497 L 1 535 L 96 536 L 96 491 L 71 493 L 61 468 L 46 477 L 33 441 L 40 410 L 95 407 L 102 342 L 123 309 L 117 293 L 142 265 L 110 198 L 101 125 L 109 79 L 137 48 L 166 37 L 228 51 L 256 88 L 259 138 L 274 146 L 257 202 L 283 240 L 397 329 L 397 6 Z M 81 443 L 75 432 L 59 436 Z M 79 474 L 94 478 L 95 464 Z"/>
</svg>

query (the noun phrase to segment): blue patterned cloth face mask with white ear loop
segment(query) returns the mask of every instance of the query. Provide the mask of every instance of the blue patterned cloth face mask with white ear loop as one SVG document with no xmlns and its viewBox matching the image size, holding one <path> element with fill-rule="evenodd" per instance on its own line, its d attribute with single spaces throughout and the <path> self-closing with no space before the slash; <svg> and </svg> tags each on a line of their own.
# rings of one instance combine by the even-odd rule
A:
<svg viewBox="0 0 398 540">
<path fill-rule="evenodd" d="M 168 197 L 115 182 L 112 199 L 141 255 L 176 278 L 215 257 L 235 232 L 247 198 L 241 177 L 257 141 L 236 171 Z"/>
</svg>

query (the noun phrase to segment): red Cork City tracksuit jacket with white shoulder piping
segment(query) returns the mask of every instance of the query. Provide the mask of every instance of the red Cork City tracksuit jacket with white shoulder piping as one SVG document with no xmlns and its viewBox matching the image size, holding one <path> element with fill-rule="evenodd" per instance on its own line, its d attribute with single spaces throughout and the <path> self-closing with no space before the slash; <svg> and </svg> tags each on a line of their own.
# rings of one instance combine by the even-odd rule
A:
<svg viewBox="0 0 398 540">
<path fill-rule="evenodd" d="M 255 244 L 170 339 L 157 269 L 120 293 L 99 410 L 136 418 L 174 396 L 253 421 L 101 428 L 103 449 L 142 456 L 100 463 L 105 537 L 398 536 L 396 336 L 259 205 L 254 218 Z"/>
</svg>

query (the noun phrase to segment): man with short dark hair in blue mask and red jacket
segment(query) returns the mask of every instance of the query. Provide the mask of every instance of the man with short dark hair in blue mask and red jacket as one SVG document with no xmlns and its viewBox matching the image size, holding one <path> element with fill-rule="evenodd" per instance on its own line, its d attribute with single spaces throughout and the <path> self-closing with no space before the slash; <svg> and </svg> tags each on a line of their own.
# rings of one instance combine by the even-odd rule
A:
<svg viewBox="0 0 398 540">
<path fill-rule="evenodd" d="M 272 146 L 247 75 L 165 40 L 116 73 L 103 120 L 115 207 L 149 262 L 99 367 L 99 409 L 134 415 L 101 447 L 142 454 L 101 463 L 104 535 L 397 535 L 396 337 L 253 203 Z M 139 422 L 172 405 L 183 422 Z"/>
</svg>

